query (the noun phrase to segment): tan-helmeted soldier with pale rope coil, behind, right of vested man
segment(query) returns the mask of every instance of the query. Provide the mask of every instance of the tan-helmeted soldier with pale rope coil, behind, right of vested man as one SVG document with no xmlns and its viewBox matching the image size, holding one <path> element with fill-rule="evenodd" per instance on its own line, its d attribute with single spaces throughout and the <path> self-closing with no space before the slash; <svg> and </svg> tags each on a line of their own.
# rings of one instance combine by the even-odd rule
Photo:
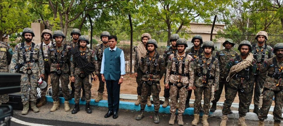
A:
<svg viewBox="0 0 283 126">
<path fill-rule="evenodd" d="M 136 93 L 138 94 L 138 100 L 136 100 L 135 105 L 139 105 L 141 102 L 141 78 L 142 78 L 142 72 L 139 68 L 139 63 L 141 60 L 141 56 L 144 56 L 147 53 L 146 50 L 146 44 L 147 41 L 151 39 L 151 36 L 149 33 L 143 33 L 141 35 L 141 43 L 139 43 L 138 46 L 134 47 L 134 52 L 135 52 L 135 65 L 134 65 L 134 74 L 136 77 L 136 83 L 138 84 L 137 88 L 136 88 Z M 148 97 L 147 97 L 147 106 L 151 106 L 151 102 L 150 102 L 150 95 L 151 95 L 151 91 L 148 92 Z"/>
</svg>

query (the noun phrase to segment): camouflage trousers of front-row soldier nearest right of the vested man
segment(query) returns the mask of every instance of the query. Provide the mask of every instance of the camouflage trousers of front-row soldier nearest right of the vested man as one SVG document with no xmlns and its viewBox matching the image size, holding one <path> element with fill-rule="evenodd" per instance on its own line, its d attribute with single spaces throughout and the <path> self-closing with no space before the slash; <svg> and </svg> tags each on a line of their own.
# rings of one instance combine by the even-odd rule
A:
<svg viewBox="0 0 283 126">
<path fill-rule="evenodd" d="M 154 111 L 158 112 L 160 108 L 160 101 L 159 101 L 159 93 L 161 91 L 160 84 L 154 83 L 152 85 L 148 85 L 147 83 L 141 82 L 142 89 L 141 89 L 141 109 L 145 108 L 147 103 L 147 96 L 149 92 L 152 92 L 152 99 L 154 105 Z"/>
</svg>

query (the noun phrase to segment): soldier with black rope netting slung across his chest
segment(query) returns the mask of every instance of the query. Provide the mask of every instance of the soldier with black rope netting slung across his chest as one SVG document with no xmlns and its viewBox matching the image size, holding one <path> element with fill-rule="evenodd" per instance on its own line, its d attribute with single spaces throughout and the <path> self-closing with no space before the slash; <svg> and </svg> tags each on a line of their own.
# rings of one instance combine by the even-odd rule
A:
<svg viewBox="0 0 283 126">
<path fill-rule="evenodd" d="M 76 114 L 80 111 L 79 103 L 80 103 L 80 91 L 82 85 L 85 88 L 85 111 L 86 113 L 92 113 L 90 107 L 91 101 L 91 86 L 92 86 L 92 79 L 91 74 L 95 72 L 94 81 L 97 80 L 98 75 L 98 65 L 97 65 L 97 58 L 95 52 L 89 48 L 87 48 L 87 44 L 89 44 L 88 36 L 80 36 L 78 39 L 78 43 L 80 45 L 75 46 L 72 49 L 71 55 L 71 81 L 75 82 L 75 108 L 72 110 L 72 114 Z M 91 64 L 91 65 L 88 65 Z M 89 67 L 94 66 L 91 70 L 83 70 L 83 68 L 89 69 Z M 88 74 L 87 72 L 91 72 Z"/>
</svg>

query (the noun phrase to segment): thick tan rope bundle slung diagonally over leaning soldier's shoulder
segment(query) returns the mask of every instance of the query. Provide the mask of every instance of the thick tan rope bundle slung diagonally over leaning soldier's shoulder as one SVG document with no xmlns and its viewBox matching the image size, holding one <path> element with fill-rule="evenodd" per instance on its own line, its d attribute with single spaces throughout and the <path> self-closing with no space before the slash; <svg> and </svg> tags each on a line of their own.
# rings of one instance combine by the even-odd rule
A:
<svg viewBox="0 0 283 126">
<path fill-rule="evenodd" d="M 253 54 L 249 53 L 247 58 L 244 59 L 241 63 L 238 63 L 237 65 L 232 66 L 232 68 L 230 69 L 229 75 L 226 78 L 226 81 L 229 82 L 230 78 L 233 78 L 233 76 L 236 73 L 240 72 L 243 69 L 248 68 L 250 65 L 253 65 L 252 64 L 253 60 L 254 60 Z"/>
</svg>

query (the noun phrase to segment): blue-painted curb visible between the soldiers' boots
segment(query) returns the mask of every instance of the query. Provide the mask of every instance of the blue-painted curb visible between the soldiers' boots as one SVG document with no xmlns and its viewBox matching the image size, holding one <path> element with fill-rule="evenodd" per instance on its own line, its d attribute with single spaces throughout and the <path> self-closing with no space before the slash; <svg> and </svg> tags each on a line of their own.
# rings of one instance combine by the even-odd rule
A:
<svg viewBox="0 0 283 126">
<path fill-rule="evenodd" d="M 46 96 L 46 101 L 52 103 L 53 99 L 50 96 Z M 62 98 L 62 97 L 59 97 L 59 101 L 60 101 L 60 103 L 64 103 L 65 99 Z M 74 98 L 72 100 L 69 100 L 69 103 L 75 104 Z M 85 105 L 85 101 L 80 101 L 80 105 Z M 96 103 L 94 101 L 94 99 L 91 99 L 90 105 L 99 106 L 99 107 L 108 107 L 108 101 L 107 100 L 101 100 L 98 103 Z M 134 110 L 134 111 L 139 111 L 141 109 L 140 105 L 135 105 L 132 102 L 124 102 L 124 101 L 120 101 L 119 108 L 120 109 L 126 109 L 126 110 Z M 154 112 L 154 106 L 152 105 L 152 106 L 148 107 L 146 105 L 144 110 L 147 111 L 147 112 Z M 162 105 L 160 105 L 159 113 L 170 113 L 170 106 L 163 108 Z M 189 108 L 185 109 L 185 112 L 183 114 L 194 115 L 194 108 L 189 107 Z M 203 112 L 200 112 L 200 115 L 203 115 Z"/>
</svg>

